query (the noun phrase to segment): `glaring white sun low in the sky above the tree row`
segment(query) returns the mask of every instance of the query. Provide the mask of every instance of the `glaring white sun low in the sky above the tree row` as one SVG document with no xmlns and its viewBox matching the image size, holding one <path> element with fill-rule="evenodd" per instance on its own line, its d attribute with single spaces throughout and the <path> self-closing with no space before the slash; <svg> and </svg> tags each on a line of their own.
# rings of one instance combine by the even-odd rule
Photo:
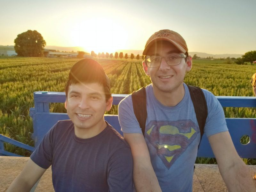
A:
<svg viewBox="0 0 256 192">
<path fill-rule="evenodd" d="M 127 32 L 123 26 L 104 17 L 84 20 L 73 31 L 73 44 L 84 48 L 85 52 L 114 53 L 125 49 Z"/>
</svg>

